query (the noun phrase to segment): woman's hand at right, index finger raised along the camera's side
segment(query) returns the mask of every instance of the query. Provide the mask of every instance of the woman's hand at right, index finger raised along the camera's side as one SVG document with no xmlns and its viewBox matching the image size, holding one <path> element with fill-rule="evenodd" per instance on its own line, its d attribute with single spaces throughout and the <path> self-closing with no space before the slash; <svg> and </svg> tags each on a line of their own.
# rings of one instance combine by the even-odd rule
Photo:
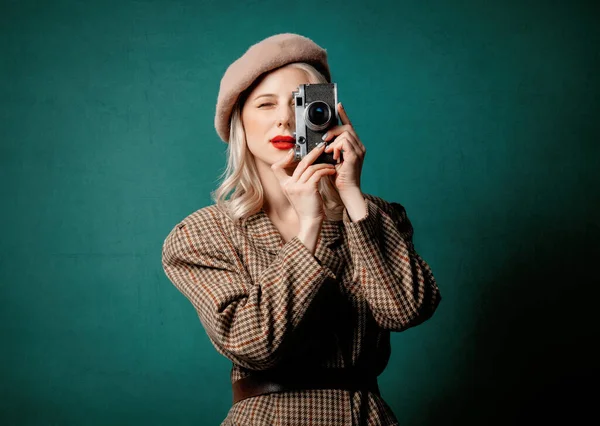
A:
<svg viewBox="0 0 600 426">
<path fill-rule="evenodd" d="M 360 174 L 367 150 L 354 131 L 354 127 L 352 127 L 352 123 L 341 103 L 338 103 L 337 109 L 342 120 L 342 125 L 327 130 L 324 140 L 329 142 L 337 136 L 325 148 L 325 152 L 333 152 L 335 160 L 341 158 L 340 152 L 343 151 L 343 158 L 341 158 L 343 161 L 335 165 L 337 173 L 330 177 L 338 192 L 343 195 L 347 191 L 360 190 Z"/>
</svg>

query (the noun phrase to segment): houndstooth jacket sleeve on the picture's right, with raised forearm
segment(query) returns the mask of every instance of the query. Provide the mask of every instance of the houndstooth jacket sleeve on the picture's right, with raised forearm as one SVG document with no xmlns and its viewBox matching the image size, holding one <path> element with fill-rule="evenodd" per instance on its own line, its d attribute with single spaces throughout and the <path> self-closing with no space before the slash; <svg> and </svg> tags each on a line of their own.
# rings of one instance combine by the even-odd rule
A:
<svg viewBox="0 0 600 426">
<path fill-rule="evenodd" d="M 355 279 L 377 324 L 402 331 L 429 319 L 441 300 L 429 265 L 413 246 L 413 228 L 404 207 L 365 195 L 367 215 L 343 222 Z"/>
</svg>

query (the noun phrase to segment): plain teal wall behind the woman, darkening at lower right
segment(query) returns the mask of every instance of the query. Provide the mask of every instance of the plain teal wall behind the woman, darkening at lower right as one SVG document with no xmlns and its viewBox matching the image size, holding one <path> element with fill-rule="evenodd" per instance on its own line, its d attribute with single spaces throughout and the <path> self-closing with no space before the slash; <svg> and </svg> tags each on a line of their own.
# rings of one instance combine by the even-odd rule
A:
<svg viewBox="0 0 600 426">
<path fill-rule="evenodd" d="M 221 76 L 280 32 L 328 50 L 363 191 L 406 207 L 441 289 L 392 335 L 400 423 L 592 413 L 597 2 L 0 4 L 0 424 L 225 417 L 230 363 L 161 247 L 223 170 Z"/>
</svg>

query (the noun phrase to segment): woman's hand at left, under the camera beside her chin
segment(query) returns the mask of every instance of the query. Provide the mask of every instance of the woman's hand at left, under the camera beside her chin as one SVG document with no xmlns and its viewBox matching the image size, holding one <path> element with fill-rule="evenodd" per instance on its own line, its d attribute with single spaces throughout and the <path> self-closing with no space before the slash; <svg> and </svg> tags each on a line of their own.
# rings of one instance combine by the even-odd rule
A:
<svg viewBox="0 0 600 426">
<path fill-rule="evenodd" d="M 325 210 L 323 198 L 319 193 L 319 181 L 322 177 L 336 173 L 333 164 L 312 164 L 325 149 L 325 143 L 315 147 L 296 166 L 292 176 L 288 176 L 284 169 L 294 163 L 294 150 L 290 150 L 285 157 L 273 163 L 271 169 L 279 179 L 283 193 L 296 210 L 300 225 L 323 222 Z M 318 146 L 318 145 L 317 145 Z"/>
</svg>

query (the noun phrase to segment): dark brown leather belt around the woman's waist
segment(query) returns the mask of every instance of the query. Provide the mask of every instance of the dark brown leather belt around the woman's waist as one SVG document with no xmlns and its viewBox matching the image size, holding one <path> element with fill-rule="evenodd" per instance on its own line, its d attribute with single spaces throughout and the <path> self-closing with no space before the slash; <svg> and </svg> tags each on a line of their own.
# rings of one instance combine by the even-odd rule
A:
<svg viewBox="0 0 600 426">
<path fill-rule="evenodd" d="M 377 377 L 353 368 L 254 371 L 232 384 L 233 403 L 253 396 L 301 389 L 369 390 L 379 395 Z"/>
</svg>

